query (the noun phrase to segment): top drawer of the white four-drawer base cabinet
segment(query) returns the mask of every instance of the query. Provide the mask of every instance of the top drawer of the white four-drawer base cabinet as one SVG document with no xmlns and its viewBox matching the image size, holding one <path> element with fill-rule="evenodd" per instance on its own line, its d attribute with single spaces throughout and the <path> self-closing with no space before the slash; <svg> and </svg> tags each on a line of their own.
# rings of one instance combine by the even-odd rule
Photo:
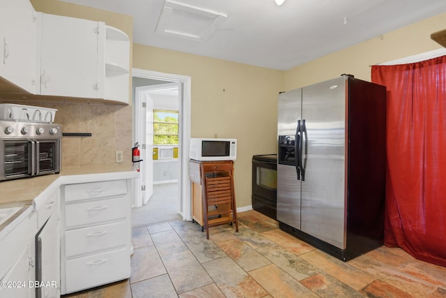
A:
<svg viewBox="0 0 446 298">
<path fill-rule="evenodd" d="M 65 202 L 103 198 L 127 193 L 126 180 L 101 181 L 65 186 Z"/>
</svg>

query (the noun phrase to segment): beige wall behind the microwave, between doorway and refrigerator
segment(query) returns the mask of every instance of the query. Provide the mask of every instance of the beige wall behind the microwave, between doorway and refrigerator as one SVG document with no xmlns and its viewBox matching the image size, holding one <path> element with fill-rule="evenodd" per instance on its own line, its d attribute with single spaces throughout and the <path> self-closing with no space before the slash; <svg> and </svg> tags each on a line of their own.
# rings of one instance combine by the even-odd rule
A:
<svg viewBox="0 0 446 298">
<path fill-rule="evenodd" d="M 192 137 L 238 140 L 238 207 L 251 204 L 252 156 L 277 151 L 277 94 L 284 73 L 156 47 L 133 45 L 133 67 L 192 77 Z"/>
</svg>

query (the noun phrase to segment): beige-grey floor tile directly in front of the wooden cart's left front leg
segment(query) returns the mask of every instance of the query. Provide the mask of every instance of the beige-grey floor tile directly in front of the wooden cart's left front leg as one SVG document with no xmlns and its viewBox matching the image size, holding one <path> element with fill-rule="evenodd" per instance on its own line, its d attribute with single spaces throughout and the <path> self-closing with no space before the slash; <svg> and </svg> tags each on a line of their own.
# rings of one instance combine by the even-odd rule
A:
<svg viewBox="0 0 446 298">
<path fill-rule="evenodd" d="M 201 263 L 226 257 L 226 253 L 214 241 L 206 239 L 206 234 L 183 237 L 183 241 Z"/>
</svg>

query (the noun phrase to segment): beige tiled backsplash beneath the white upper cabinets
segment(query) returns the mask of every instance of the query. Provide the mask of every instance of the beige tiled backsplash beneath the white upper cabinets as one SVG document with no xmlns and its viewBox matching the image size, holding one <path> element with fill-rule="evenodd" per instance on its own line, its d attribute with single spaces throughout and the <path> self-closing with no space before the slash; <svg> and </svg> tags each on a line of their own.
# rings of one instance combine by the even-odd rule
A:
<svg viewBox="0 0 446 298">
<path fill-rule="evenodd" d="M 132 162 L 131 105 L 23 100 L 8 103 L 55 108 L 54 123 L 62 125 L 63 133 L 91 133 L 91 137 L 63 137 L 62 167 L 109 165 L 115 163 L 116 150 L 124 152 L 125 164 Z"/>
</svg>

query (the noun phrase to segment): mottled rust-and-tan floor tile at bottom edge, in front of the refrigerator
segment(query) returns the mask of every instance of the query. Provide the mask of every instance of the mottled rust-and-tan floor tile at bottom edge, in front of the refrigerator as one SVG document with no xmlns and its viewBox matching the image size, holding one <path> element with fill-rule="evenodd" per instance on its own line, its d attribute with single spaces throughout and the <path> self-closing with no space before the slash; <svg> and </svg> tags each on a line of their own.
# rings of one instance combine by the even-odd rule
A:
<svg viewBox="0 0 446 298">
<path fill-rule="evenodd" d="M 316 274 L 305 278 L 300 281 L 302 285 L 315 292 L 318 296 L 324 298 L 332 297 L 352 297 L 352 298 L 362 298 L 363 295 L 357 292 L 355 289 L 349 287 L 345 283 L 341 283 L 336 278 L 328 274 Z"/>
</svg>

